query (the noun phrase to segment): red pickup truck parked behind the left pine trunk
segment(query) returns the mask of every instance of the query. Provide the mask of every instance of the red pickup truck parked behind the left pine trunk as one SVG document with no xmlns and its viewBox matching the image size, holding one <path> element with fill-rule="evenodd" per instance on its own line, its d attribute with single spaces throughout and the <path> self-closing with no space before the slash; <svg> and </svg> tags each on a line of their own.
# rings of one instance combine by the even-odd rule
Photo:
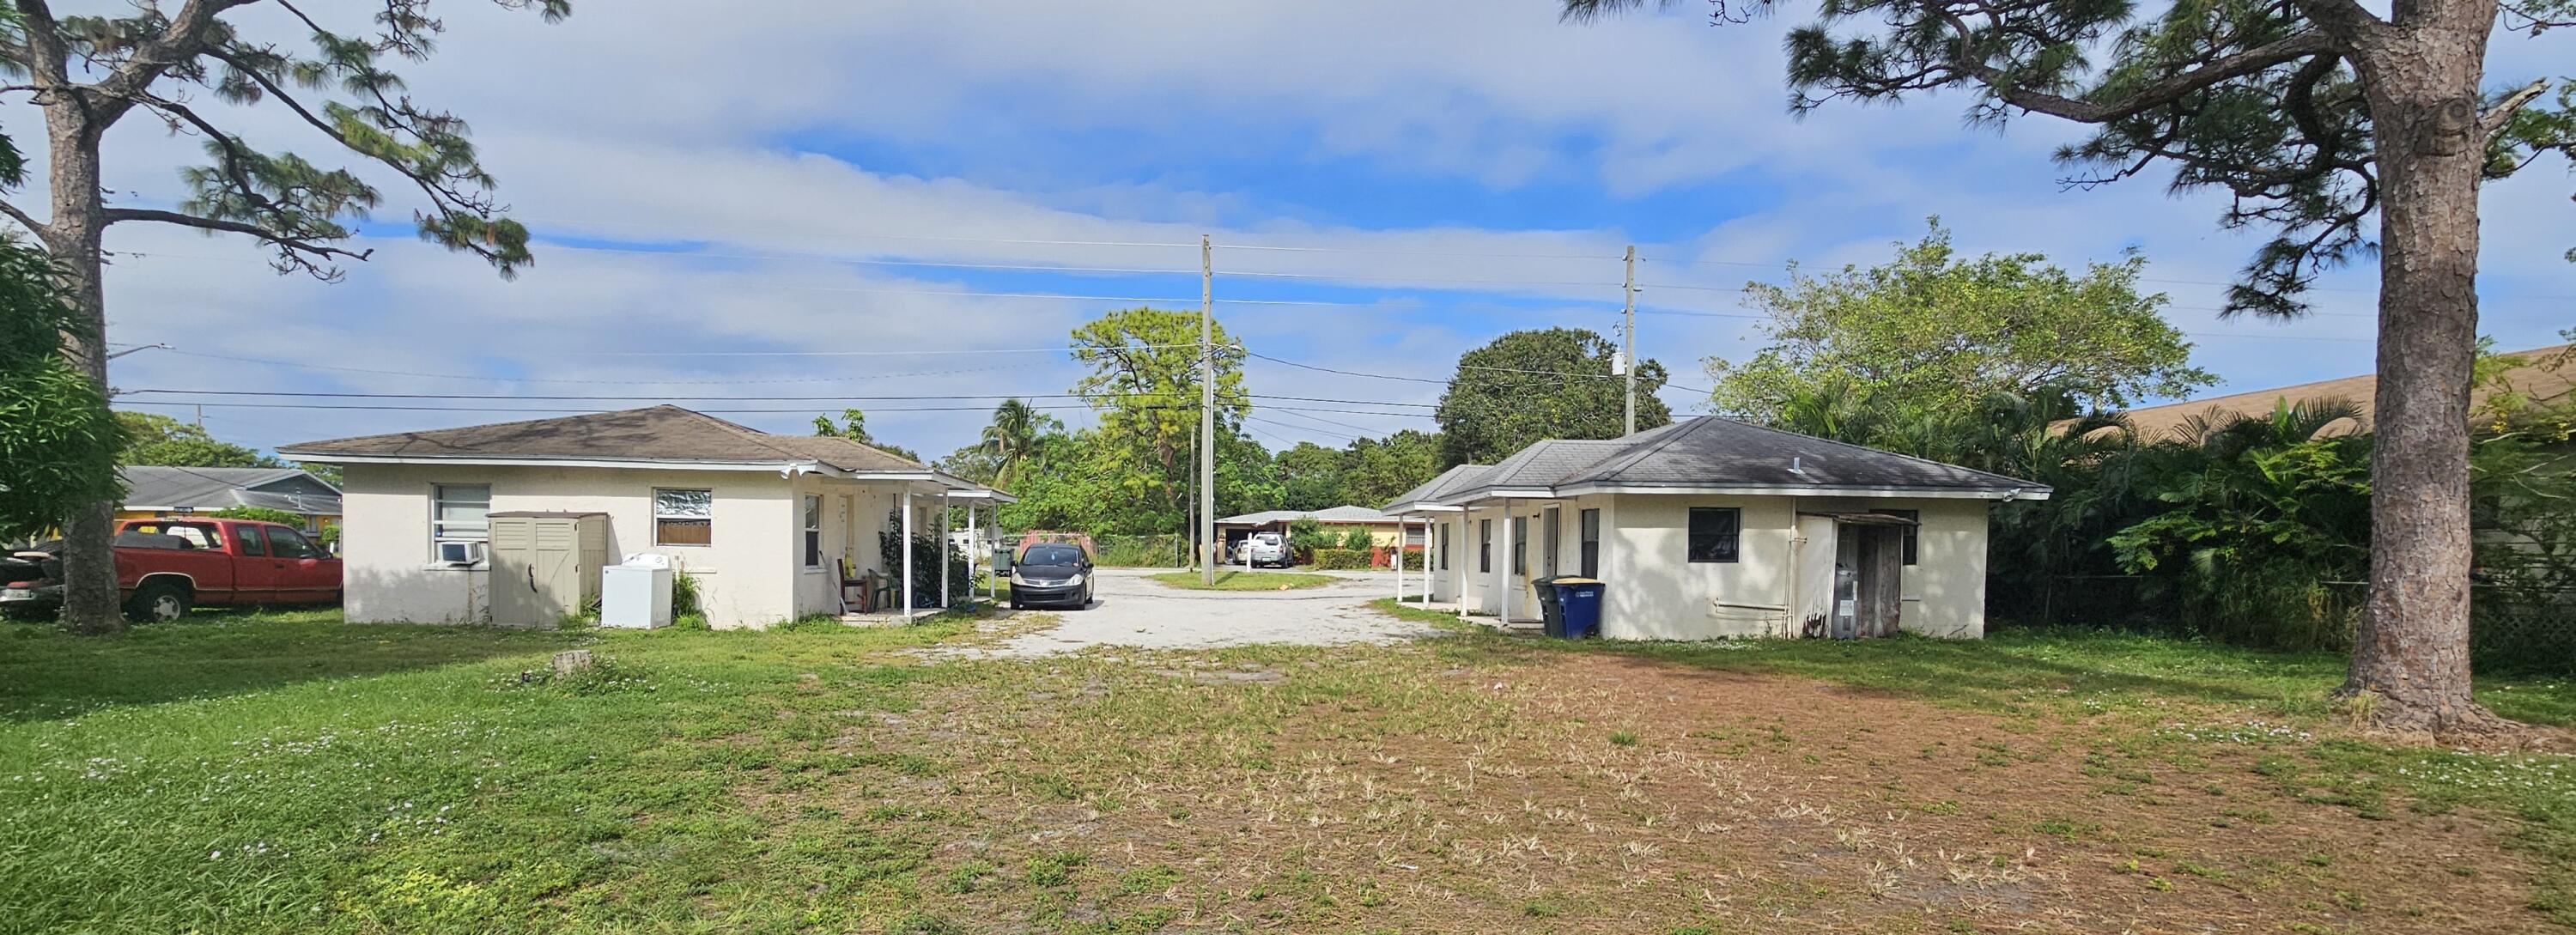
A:
<svg viewBox="0 0 2576 935">
<path fill-rule="evenodd" d="M 62 605 L 62 562 L 41 551 L 0 562 L 0 610 Z M 15 580 L 28 574 L 21 567 L 33 577 Z M 278 523 L 126 520 L 116 531 L 116 587 L 134 621 L 175 621 L 193 605 L 340 603 L 340 559 Z"/>
</svg>

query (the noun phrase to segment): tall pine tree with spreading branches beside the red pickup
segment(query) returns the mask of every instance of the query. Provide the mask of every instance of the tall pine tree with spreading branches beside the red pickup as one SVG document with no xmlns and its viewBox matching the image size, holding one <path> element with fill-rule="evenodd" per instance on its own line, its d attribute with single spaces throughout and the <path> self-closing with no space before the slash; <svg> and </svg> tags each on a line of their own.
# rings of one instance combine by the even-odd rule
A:
<svg viewBox="0 0 2576 935">
<path fill-rule="evenodd" d="M 572 13 L 569 0 L 497 0 L 538 10 L 546 21 Z M 126 15 L 57 15 L 52 3 L 13 0 L 0 8 L 0 67 L 8 93 L 26 93 L 44 111 L 46 193 L 41 211 L 0 201 L 0 214 L 44 242 L 80 312 L 64 348 L 93 384 L 108 381 L 108 312 L 100 294 L 100 245 L 113 224 L 175 224 L 209 234 L 242 234 L 273 250 L 281 270 L 340 278 L 355 222 L 384 196 L 358 170 L 322 167 L 296 152 L 258 149 L 227 121 L 273 103 L 276 116 L 417 193 L 420 237 L 489 260 L 502 276 L 528 265 L 528 229 L 500 214 L 492 175 L 448 111 L 417 103 L 389 64 L 420 62 L 446 28 L 430 0 L 358 5 L 294 5 L 286 0 L 188 0 L 126 5 Z M 296 33 L 304 46 L 263 41 L 263 28 Z M 209 108 L 206 98 L 222 103 Z M 108 206 L 106 139 L 126 116 L 147 113 L 175 134 L 204 142 L 206 162 L 183 167 L 188 198 L 175 206 Z M 258 124 L 258 121 L 245 121 Z M 15 165 L 10 173 L 15 175 Z M 36 219 L 44 214 L 44 222 Z M 82 631 L 116 631 L 116 562 L 108 551 L 113 502 L 75 510 L 64 523 L 62 616 Z"/>
</svg>

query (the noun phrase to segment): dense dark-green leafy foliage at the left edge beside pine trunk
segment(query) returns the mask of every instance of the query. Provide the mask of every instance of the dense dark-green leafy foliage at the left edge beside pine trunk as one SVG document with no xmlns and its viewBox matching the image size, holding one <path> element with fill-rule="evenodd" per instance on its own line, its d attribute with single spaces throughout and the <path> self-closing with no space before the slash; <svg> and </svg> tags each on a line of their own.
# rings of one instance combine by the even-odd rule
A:
<svg viewBox="0 0 2576 935">
<path fill-rule="evenodd" d="M 13 167 L 8 139 L 0 155 L 0 170 Z M 0 240 L 0 541 L 41 536 L 121 495 L 124 428 L 98 381 L 62 358 L 62 335 L 82 327 L 46 255 Z"/>
</svg>

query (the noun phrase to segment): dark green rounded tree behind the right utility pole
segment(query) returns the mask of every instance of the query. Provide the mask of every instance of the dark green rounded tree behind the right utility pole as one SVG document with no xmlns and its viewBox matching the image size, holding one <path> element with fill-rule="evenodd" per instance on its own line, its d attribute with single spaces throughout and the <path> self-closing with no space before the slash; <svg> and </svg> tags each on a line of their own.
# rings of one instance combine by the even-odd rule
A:
<svg viewBox="0 0 2576 935">
<path fill-rule="evenodd" d="M 1546 438 L 1618 438 L 1625 379 L 1610 373 L 1613 350 L 1600 332 L 1548 327 L 1510 332 L 1461 355 L 1435 412 L 1443 466 L 1492 464 Z M 1664 379 L 1662 363 L 1638 366 L 1638 430 L 1672 422 L 1672 410 L 1654 397 Z"/>
</svg>

